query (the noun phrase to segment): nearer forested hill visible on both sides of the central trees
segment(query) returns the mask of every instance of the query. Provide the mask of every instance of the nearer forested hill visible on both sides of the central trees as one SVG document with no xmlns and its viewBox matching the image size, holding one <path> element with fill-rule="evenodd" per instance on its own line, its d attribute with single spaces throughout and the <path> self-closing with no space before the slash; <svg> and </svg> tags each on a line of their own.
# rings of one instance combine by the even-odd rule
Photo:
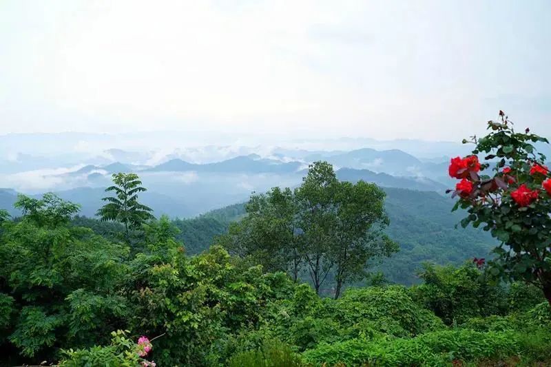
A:
<svg viewBox="0 0 551 367">
<path fill-rule="evenodd" d="M 400 251 L 375 270 L 384 272 L 388 280 L 400 284 L 419 282 L 415 272 L 423 262 L 461 264 L 470 258 L 486 257 L 494 243 L 490 235 L 479 229 L 455 228 L 463 218 L 460 211 L 450 212 L 453 200 L 435 192 L 384 188 L 386 210 L 391 218 L 388 235 L 398 242 Z M 231 205 L 190 220 L 176 221 L 189 253 L 209 247 L 214 236 L 227 231 L 227 226 L 245 213 L 245 204 Z"/>
</svg>

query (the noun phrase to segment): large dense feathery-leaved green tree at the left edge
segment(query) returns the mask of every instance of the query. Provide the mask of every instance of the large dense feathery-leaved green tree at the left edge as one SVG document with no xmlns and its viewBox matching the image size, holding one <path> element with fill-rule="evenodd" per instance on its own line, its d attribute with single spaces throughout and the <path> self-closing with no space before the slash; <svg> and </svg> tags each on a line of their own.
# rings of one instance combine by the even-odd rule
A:
<svg viewBox="0 0 551 367">
<path fill-rule="evenodd" d="M 121 326 L 127 247 L 70 225 L 79 206 L 52 193 L 21 195 L 15 207 L 23 216 L 0 233 L 0 348 L 53 360 L 61 346 L 91 346 L 106 327 Z"/>
</svg>

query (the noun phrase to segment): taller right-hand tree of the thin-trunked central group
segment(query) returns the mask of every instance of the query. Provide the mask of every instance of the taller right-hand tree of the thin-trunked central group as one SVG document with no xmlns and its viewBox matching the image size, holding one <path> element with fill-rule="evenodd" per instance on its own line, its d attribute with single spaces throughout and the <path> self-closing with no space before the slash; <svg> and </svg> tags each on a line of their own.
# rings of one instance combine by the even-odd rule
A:
<svg viewBox="0 0 551 367">
<path fill-rule="evenodd" d="M 366 276 L 367 262 L 398 250 L 384 229 L 385 193 L 373 183 L 340 182 L 328 162 L 314 162 L 297 189 L 302 256 L 316 293 L 333 271 L 335 299 L 342 286 Z"/>
</svg>

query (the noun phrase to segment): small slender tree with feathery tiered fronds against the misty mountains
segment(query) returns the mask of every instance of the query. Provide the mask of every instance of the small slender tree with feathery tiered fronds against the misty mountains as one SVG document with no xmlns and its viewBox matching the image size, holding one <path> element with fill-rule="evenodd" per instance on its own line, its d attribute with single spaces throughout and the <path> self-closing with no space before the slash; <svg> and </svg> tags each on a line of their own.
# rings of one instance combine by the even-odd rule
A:
<svg viewBox="0 0 551 367">
<path fill-rule="evenodd" d="M 115 196 L 107 196 L 103 201 L 108 203 L 98 209 L 96 216 L 101 220 L 114 220 L 125 226 L 125 238 L 129 242 L 130 230 L 140 229 L 147 220 L 155 218 L 153 209 L 138 202 L 138 193 L 147 191 L 136 174 L 118 173 L 112 176 L 114 186 L 107 187 L 106 192 L 114 191 Z"/>
</svg>

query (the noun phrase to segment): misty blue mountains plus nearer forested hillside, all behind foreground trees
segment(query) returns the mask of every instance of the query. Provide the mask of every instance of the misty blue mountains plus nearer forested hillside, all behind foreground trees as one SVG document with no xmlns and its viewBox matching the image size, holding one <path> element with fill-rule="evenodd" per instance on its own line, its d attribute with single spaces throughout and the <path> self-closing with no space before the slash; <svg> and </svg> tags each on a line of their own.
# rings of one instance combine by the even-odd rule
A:
<svg viewBox="0 0 551 367">
<path fill-rule="evenodd" d="M 176 220 L 183 231 L 181 239 L 196 253 L 207 249 L 231 220 L 242 215 L 242 203 L 253 191 L 296 187 L 309 163 L 326 160 L 340 180 L 364 180 L 385 188 L 391 218 L 388 232 L 401 247 L 382 265 L 389 279 L 413 283 L 415 269 L 423 261 L 462 262 L 486 255 L 492 245 L 487 233 L 454 228 L 461 213 L 450 213 L 453 200 L 444 195 L 454 184 L 447 176 L 449 158 L 466 154 L 465 145 L 343 138 L 261 146 L 172 146 L 161 145 L 154 135 L 147 146 L 129 147 L 127 142 L 135 136 L 38 135 L 0 136 L 12 147 L 8 155 L 5 145 L 0 148 L 0 187 L 5 188 L 0 189 L 0 208 L 15 216 L 18 192 L 39 197 L 54 191 L 81 205 L 81 215 L 93 218 L 103 205 L 112 174 L 135 172 L 148 189 L 140 200 L 156 216 L 190 218 L 220 209 L 216 215 Z M 132 144 L 136 141 L 145 138 Z M 96 143 L 105 149 L 87 150 Z"/>
</svg>

